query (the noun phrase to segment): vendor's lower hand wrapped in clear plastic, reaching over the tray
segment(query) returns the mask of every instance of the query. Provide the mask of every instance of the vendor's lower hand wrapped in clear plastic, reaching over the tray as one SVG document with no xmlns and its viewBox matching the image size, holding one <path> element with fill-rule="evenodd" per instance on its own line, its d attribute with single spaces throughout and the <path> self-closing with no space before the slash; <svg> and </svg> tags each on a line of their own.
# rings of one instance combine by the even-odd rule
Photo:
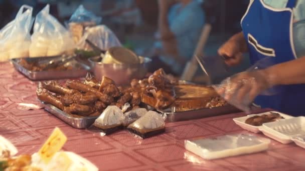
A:
<svg viewBox="0 0 305 171">
<path fill-rule="evenodd" d="M 272 87 L 265 70 L 245 71 L 225 79 L 216 91 L 237 106 L 249 105 L 262 91 Z"/>
</svg>

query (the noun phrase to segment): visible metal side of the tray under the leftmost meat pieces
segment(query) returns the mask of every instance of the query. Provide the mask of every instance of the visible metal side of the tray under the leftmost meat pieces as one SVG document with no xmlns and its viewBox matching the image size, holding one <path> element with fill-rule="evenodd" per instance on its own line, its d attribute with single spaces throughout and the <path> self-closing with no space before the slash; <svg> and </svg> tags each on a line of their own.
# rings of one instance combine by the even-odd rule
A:
<svg viewBox="0 0 305 171">
<path fill-rule="evenodd" d="M 60 118 L 64 122 L 68 123 L 72 127 L 78 128 L 78 129 L 83 129 L 83 128 L 88 128 L 90 127 L 95 119 L 97 119 L 98 116 L 93 116 L 93 117 L 83 117 L 83 118 L 78 118 L 78 117 L 73 117 L 69 115 L 68 113 L 62 111 L 61 109 L 55 107 L 52 104 L 45 104 L 42 102 L 44 105 L 45 110 L 49 111 L 56 117 Z"/>
</svg>

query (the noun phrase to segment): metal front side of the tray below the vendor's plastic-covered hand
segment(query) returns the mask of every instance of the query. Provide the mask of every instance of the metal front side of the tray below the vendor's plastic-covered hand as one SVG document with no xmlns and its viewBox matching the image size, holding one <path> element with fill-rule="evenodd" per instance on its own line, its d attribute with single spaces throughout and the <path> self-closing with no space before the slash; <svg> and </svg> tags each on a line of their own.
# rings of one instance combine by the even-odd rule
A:
<svg viewBox="0 0 305 171">
<path fill-rule="evenodd" d="M 179 112 L 168 112 L 168 111 L 161 111 L 162 113 L 167 114 L 167 121 L 169 122 L 176 122 L 182 120 L 192 120 L 192 119 L 199 119 L 204 117 L 211 117 L 223 114 L 231 114 L 236 112 L 241 112 L 240 109 L 232 106 L 232 105 L 224 105 L 220 107 L 213 107 L 213 108 L 201 108 L 196 110 L 188 110 L 188 111 L 179 111 Z"/>
</svg>

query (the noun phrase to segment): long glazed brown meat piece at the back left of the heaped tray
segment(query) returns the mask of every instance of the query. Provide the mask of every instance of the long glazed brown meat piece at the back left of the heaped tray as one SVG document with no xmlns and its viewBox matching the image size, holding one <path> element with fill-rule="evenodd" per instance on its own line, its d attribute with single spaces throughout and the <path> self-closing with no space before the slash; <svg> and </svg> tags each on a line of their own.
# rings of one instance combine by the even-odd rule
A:
<svg viewBox="0 0 305 171">
<path fill-rule="evenodd" d="M 46 88 L 47 90 L 51 91 L 51 92 L 55 92 L 55 93 L 59 93 L 59 94 L 73 94 L 76 93 L 77 90 L 75 89 L 70 89 L 68 87 L 64 87 L 62 85 L 60 85 L 57 81 L 43 81 L 42 82 L 42 87 Z"/>
</svg>

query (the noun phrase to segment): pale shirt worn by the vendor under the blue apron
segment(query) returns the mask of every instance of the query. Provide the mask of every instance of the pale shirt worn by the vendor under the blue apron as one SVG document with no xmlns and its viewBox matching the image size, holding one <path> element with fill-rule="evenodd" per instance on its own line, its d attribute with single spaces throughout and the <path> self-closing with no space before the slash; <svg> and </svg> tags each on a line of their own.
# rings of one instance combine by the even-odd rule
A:
<svg viewBox="0 0 305 171">
<path fill-rule="evenodd" d="M 263 0 L 273 8 L 284 8 L 288 0 Z M 293 8 L 293 44 L 297 57 L 305 56 L 305 0 L 297 0 Z"/>
</svg>

